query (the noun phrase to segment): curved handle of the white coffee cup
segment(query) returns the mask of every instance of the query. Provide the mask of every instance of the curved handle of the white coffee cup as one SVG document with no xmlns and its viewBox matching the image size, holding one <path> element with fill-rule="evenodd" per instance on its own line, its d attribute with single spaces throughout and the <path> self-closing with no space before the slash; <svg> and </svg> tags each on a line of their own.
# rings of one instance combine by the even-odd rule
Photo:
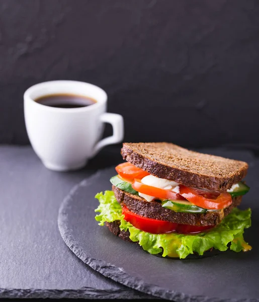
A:
<svg viewBox="0 0 259 302">
<path fill-rule="evenodd" d="M 120 114 L 105 112 L 101 115 L 100 119 L 101 122 L 110 123 L 112 125 L 113 135 L 103 138 L 94 146 L 92 157 L 94 157 L 104 146 L 121 142 L 124 137 L 124 122 L 123 117 Z"/>
</svg>

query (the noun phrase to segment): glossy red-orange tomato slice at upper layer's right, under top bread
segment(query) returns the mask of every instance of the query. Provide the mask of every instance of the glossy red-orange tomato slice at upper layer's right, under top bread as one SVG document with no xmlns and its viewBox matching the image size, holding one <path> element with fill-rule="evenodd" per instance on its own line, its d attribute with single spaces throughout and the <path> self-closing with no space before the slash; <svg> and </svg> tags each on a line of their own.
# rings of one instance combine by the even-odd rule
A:
<svg viewBox="0 0 259 302">
<path fill-rule="evenodd" d="M 228 192 L 213 192 L 180 185 L 180 194 L 204 209 L 220 210 L 232 203 L 232 197 Z"/>
</svg>

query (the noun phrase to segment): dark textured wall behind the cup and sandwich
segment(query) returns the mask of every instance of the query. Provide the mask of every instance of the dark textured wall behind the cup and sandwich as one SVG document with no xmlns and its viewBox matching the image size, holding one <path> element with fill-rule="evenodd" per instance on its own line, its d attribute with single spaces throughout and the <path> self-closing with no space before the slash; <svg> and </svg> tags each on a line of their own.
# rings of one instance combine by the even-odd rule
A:
<svg viewBox="0 0 259 302">
<path fill-rule="evenodd" d="M 28 143 L 38 82 L 104 88 L 126 141 L 259 146 L 259 3 L 0 0 L 0 143 Z"/>
</svg>

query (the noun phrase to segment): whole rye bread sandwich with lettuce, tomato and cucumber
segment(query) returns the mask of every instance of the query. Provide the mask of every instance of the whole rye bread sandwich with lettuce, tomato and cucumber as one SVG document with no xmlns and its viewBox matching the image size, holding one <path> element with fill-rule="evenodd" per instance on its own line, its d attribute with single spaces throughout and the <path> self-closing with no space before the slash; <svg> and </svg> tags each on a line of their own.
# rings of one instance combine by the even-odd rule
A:
<svg viewBox="0 0 259 302">
<path fill-rule="evenodd" d="M 112 190 L 96 195 L 100 225 L 162 257 L 251 249 L 251 210 L 237 208 L 247 163 L 166 142 L 123 143 L 121 155 Z"/>
</svg>

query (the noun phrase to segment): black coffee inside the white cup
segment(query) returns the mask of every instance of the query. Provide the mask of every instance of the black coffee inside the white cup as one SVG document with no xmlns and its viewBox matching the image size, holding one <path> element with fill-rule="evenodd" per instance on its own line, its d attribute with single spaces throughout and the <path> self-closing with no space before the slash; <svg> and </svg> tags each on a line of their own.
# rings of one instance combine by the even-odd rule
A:
<svg viewBox="0 0 259 302">
<path fill-rule="evenodd" d="M 52 94 L 40 97 L 35 102 L 55 108 L 81 108 L 93 105 L 97 101 L 80 95 Z"/>
</svg>

